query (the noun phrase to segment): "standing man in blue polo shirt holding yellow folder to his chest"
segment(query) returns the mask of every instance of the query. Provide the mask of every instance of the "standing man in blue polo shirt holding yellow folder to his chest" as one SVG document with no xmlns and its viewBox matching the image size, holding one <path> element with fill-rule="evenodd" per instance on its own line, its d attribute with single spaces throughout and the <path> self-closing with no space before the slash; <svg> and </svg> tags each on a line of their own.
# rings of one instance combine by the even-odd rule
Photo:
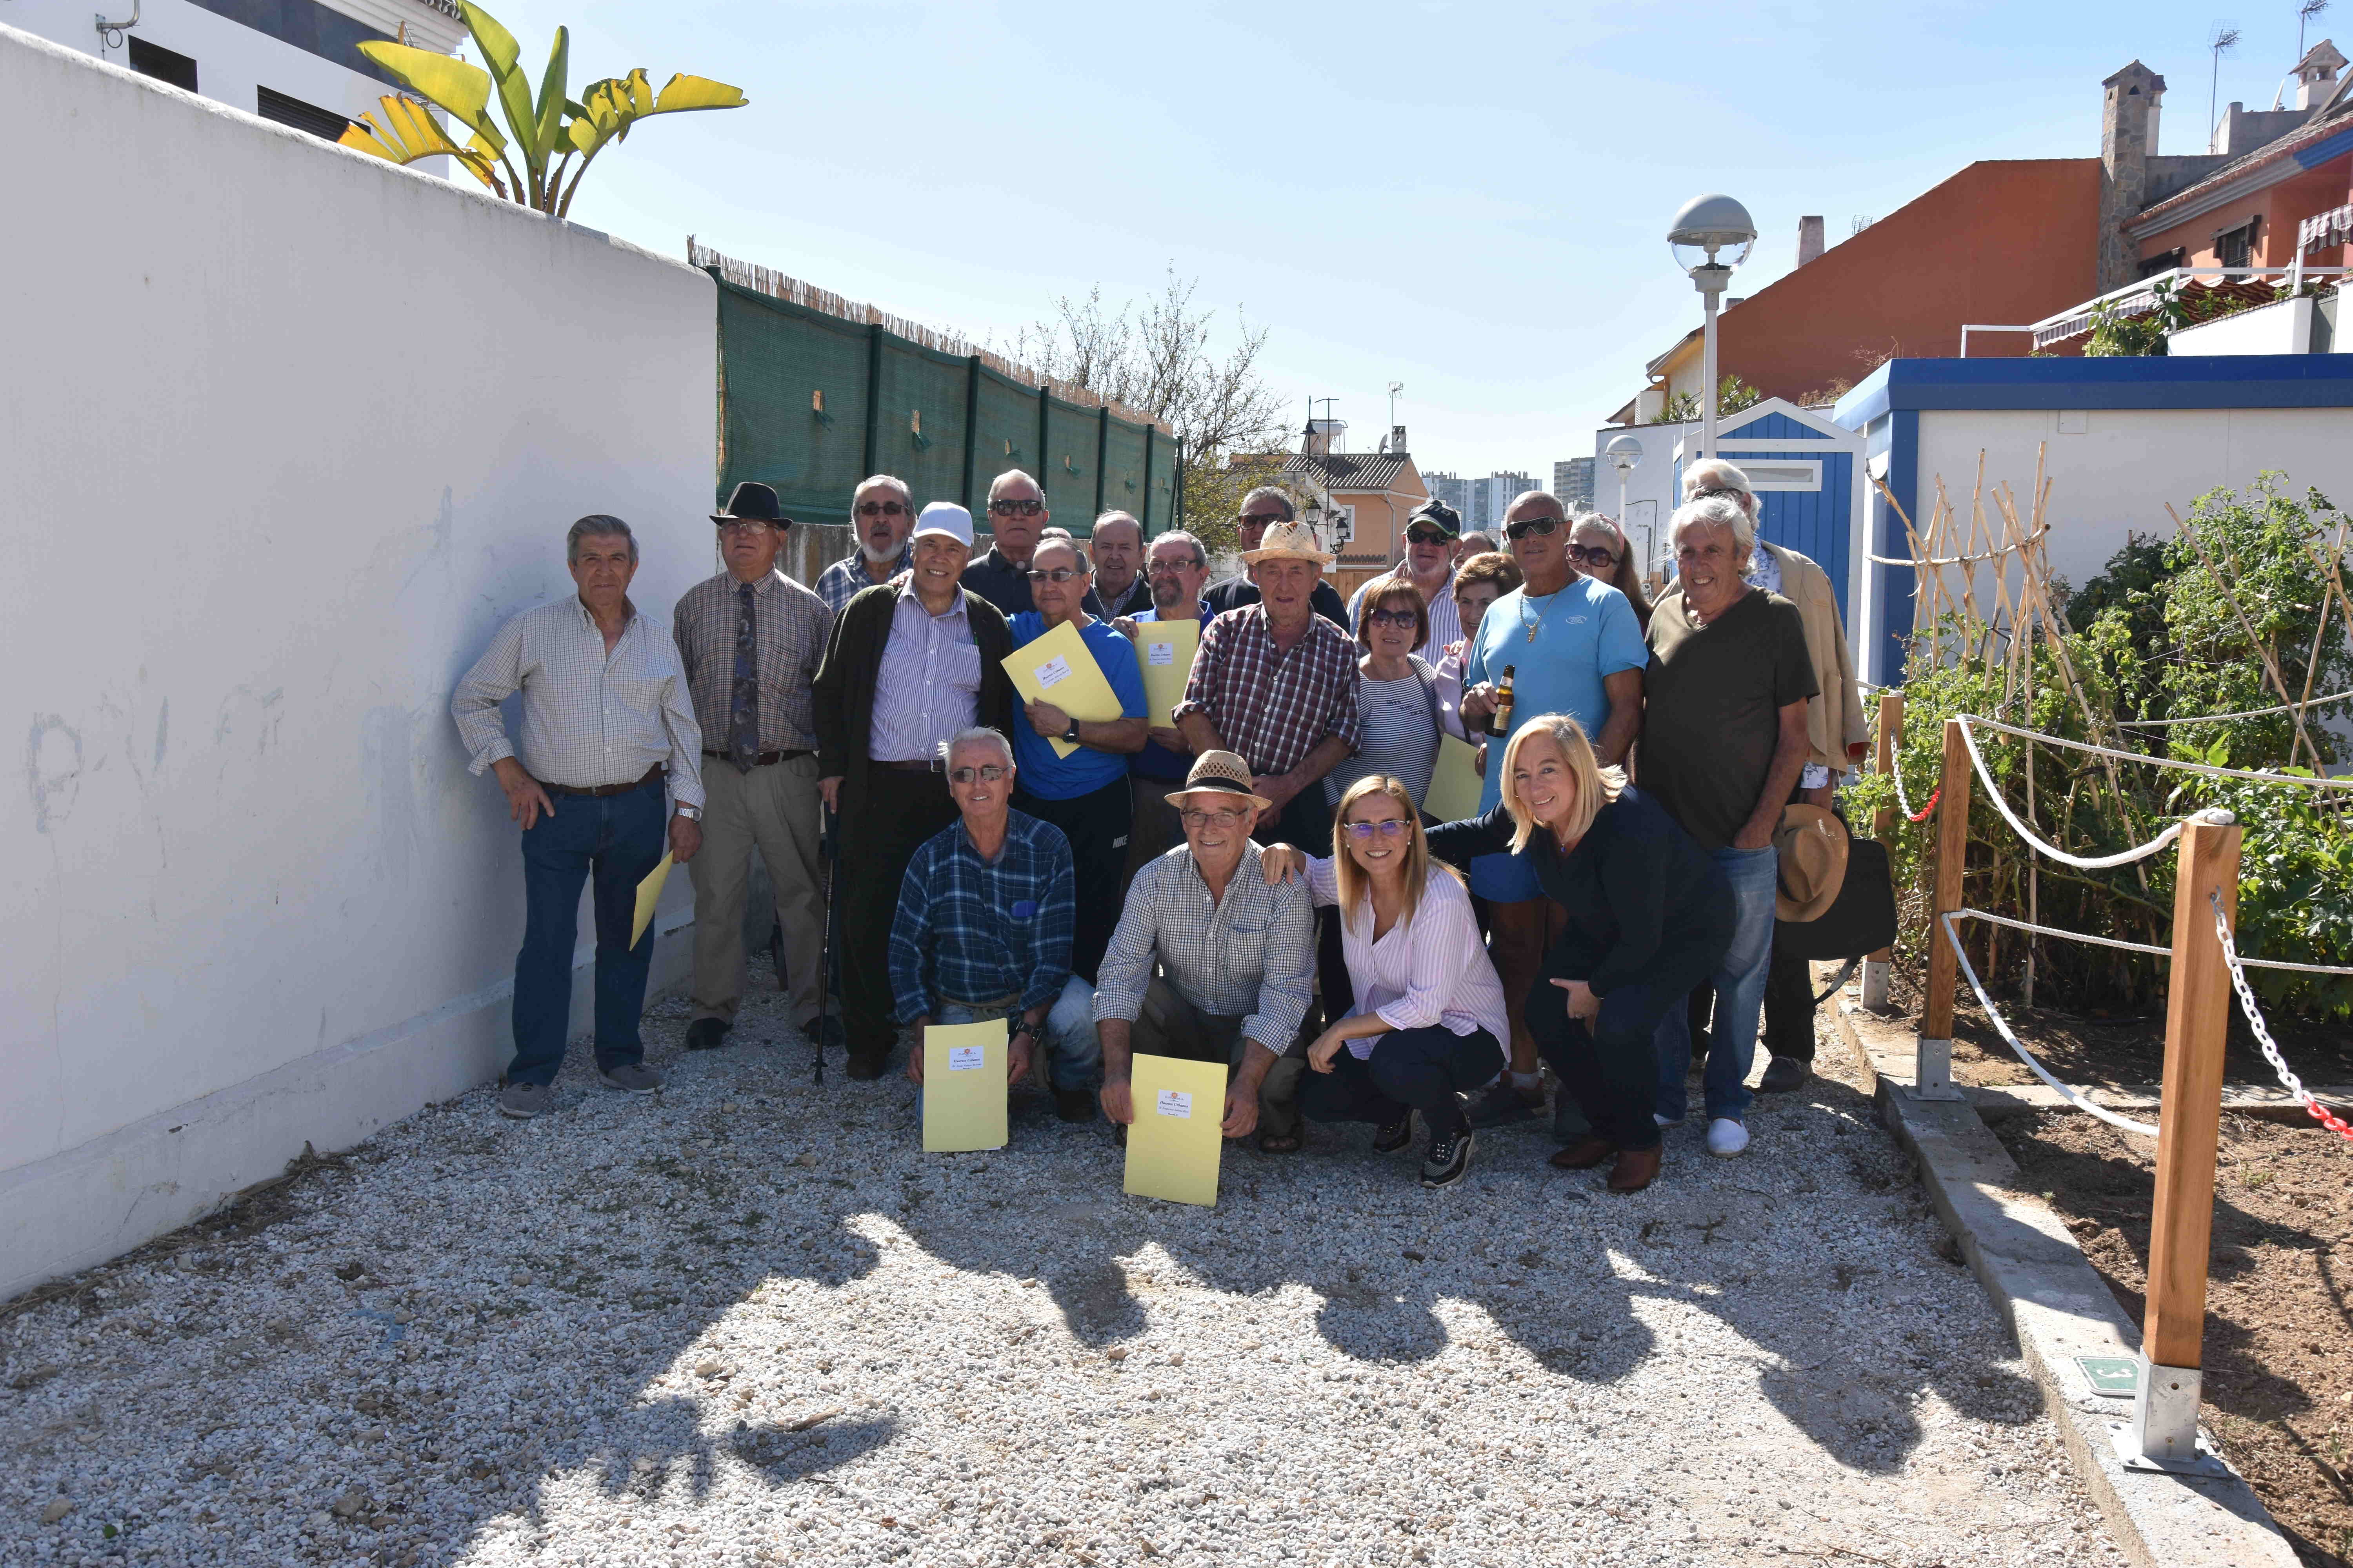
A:
<svg viewBox="0 0 2353 1568">
<path fill-rule="evenodd" d="M 1120 924 L 1120 872 L 1127 865 L 1127 757 L 1144 750 L 1144 672 L 1136 649 L 1106 621 L 1096 621 L 1080 602 L 1092 585 L 1087 557 L 1068 538 L 1042 538 L 1028 564 L 1031 602 L 1012 618 L 1014 646 L 1028 646 L 1061 623 L 1078 628 L 1080 642 L 1094 654 L 1096 668 L 1120 698 L 1118 719 L 1073 719 L 1054 703 L 1026 703 L 1014 719 L 1014 809 L 1054 823 L 1071 839 L 1071 872 L 1078 896 L 1078 926 L 1071 943 L 1071 973 L 1094 985 L 1111 929 Z M 1073 743 L 1068 757 L 1054 741 Z"/>
</svg>

